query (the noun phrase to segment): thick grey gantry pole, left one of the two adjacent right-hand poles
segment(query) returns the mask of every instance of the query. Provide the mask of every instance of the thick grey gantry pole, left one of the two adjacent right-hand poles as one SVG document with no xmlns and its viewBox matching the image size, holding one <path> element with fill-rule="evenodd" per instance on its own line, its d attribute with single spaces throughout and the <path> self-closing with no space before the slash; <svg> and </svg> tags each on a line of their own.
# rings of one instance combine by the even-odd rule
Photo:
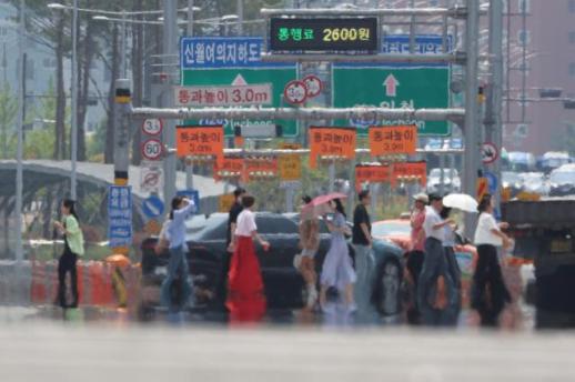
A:
<svg viewBox="0 0 575 382">
<path fill-rule="evenodd" d="M 465 124 L 464 124 L 464 171 L 463 171 L 463 190 L 470 195 L 476 193 L 476 181 L 480 154 L 480 142 L 477 142 L 477 66 L 478 66 L 478 42 L 480 42 L 480 2 L 477 0 L 467 0 L 467 20 L 465 28 L 465 51 L 467 60 L 465 64 Z M 473 215 L 465 215 L 465 235 L 471 238 L 474 227 Z"/>
</svg>

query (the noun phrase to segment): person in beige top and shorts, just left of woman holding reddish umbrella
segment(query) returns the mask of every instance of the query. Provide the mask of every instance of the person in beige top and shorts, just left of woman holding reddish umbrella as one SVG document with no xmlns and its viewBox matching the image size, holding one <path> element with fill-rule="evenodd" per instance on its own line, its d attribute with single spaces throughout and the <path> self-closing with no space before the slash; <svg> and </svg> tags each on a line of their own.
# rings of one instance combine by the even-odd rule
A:
<svg viewBox="0 0 575 382">
<path fill-rule="evenodd" d="M 312 198 L 309 195 L 302 197 L 302 208 L 311 203 Z M 307 288 L 306 308 L 313 309 L 317 301 L 317 274 L 315 273 L 314 257 L 320 248 L 320 221 L 317 218 L 306 219 L 300 221 L 300 247 L 302 253 L 297 270 L 302 273 Z"/>
</svg>

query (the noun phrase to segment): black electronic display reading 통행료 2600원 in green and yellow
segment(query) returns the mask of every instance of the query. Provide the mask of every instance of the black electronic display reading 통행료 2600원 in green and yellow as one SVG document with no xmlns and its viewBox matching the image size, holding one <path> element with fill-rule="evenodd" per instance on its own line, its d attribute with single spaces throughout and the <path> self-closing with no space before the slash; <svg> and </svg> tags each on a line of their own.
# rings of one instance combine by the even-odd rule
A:
<svg viewBox="0 0 575 382">
<path fill-rule="evenodd" d="M 272 53 L 379 51 L 377 18 L 272 18 Z"/>
</svg>

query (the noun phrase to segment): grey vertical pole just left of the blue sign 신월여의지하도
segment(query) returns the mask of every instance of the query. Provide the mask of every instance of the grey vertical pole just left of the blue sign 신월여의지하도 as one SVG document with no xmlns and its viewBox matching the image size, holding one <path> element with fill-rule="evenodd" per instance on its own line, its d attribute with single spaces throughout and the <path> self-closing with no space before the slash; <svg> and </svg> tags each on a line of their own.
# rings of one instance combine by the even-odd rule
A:
<svg viewBox="0 0 575 382">
<path fill-rule="evenodd" d="M 162 104 L 173 105 L 173 92 L 171 91 L 171 69 L 173 58 L 178 56 L 178 11 L 176 1 L 163 1 L 163 64 L 168 71 L 165 91 L 162 96 Z M 175 121 L 165 121 L 163 130 L 163 142 L 167 148 L 175 148 Z M 175 195 L 176 179 L 176 158 L 174 153 L 169 153 L 164 159 L 164 190 L 163 198 L 165 205 L 170 205 L 172 198 Z"/>
</svg>

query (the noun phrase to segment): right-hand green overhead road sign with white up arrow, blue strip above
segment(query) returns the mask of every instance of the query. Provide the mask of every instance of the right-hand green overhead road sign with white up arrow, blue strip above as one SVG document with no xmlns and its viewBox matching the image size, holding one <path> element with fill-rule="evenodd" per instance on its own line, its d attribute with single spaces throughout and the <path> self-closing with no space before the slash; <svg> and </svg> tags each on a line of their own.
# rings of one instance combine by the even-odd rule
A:
<svg viewBox="0 0 575 382">
<path fill-rule="evenodd" d="M 405 41 L 405 39 L 407 39 Z M 417 37 L 416 51 L 423 54 L 441 52 L 441 37 Z M 403 52 L 408 37 L 386 37 L 384 52 Z M 436 50 L 434 50 L 436 49 Z M 430 51 L 431 50 L 431 51 Z M 382 108 L 448 108 L 450 68 L 443 64 L 336 64 L 332 71 L 334 108 L 371 105 Z M 372 124 L 415 123 L 420 135 L 448 135 L 450 124 L 443 121 L 337 121 L 359 128 L 366 134 Z"/>
</svg>

